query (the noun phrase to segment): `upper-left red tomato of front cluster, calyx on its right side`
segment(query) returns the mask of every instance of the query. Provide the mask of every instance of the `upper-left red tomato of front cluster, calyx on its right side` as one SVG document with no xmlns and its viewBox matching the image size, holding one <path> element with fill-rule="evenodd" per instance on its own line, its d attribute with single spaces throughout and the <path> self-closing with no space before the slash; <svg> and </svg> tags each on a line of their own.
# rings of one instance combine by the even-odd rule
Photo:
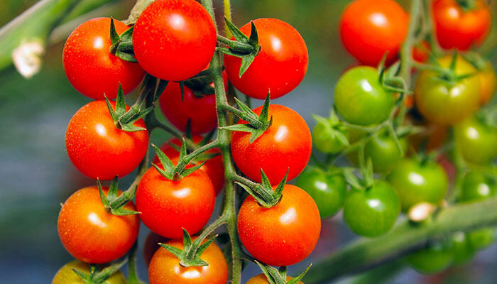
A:
<svg viewBox="0 0 497 284">
<path fill-rule="evenodd" d="M 75 28 L 62 52 L 67 79 L 78 92 L 92 99 L 115 99 L 119 83 L 124 94 L 140 84 L 143 69 L 110 53 L 110 18 L 92 18 Z M 121 34 L 129 26 L 114 20 L 116 32 Z"/>
</svg>

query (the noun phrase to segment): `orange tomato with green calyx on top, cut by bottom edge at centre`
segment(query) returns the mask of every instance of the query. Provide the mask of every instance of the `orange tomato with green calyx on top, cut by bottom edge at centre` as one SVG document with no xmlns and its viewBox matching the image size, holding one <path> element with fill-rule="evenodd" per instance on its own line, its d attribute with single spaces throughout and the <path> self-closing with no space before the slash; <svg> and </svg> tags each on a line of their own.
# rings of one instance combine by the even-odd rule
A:
<svg viewBox="0 0 497 284">
<path fill-rule="evenodd" d="M 196 238 L 192 238 L 195 240 Z M 168 241 L 166 244 L 183 249 L 180 240 Z M 228 281 L 228 265 L 217 244 L 210 244 L 200 255 L 208 266 L 183 267 L 180 260 L 164 248 L 158 249 L 148 267 L 150 284 L 225 284 Z"/>
</svg>

